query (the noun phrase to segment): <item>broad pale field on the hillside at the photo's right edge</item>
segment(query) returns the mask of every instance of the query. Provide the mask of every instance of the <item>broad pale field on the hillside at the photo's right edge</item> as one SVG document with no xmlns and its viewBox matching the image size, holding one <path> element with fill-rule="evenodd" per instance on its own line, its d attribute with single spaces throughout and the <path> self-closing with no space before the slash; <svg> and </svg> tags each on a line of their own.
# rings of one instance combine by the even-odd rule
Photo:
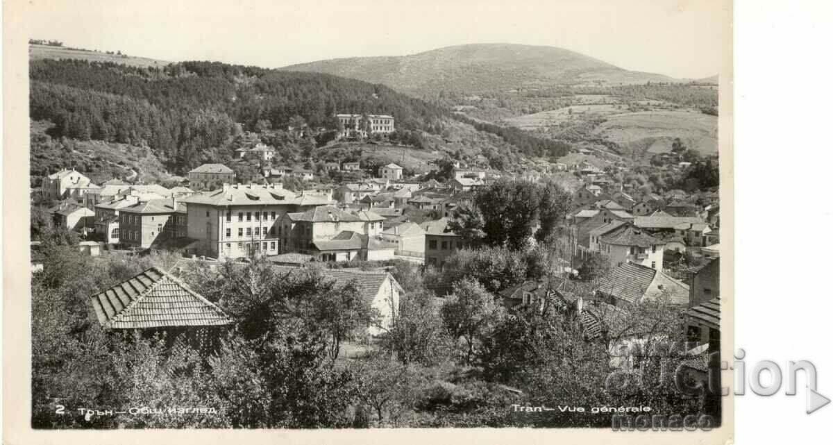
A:
<svg viewBox="0 0 833 445">
<path fill-rule="evenodd" d="M 670 152 L 674 138 L 680 138 L 703 155 L 717 153 L 717 117 L 701 112 L 615 114 L 593 133 L 637 152 Z"/>
</svg>

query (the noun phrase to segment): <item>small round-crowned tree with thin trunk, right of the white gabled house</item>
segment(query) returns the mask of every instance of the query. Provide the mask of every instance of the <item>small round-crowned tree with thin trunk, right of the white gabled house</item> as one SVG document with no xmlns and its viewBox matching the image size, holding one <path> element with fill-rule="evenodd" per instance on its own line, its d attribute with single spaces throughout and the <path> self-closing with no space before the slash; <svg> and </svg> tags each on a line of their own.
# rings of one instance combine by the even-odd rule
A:
<svg viewBox="0 0 833 445">
<path fill-rule="evenodd" d="M 475 343 L 488 335 L 503 310 L 480 283 L 463 278 L 454 284 L 454 293 L 442 304 L 440 314 L 451 337 L 466 341 L 466 363 L 471 363 Z"/>
</svg>

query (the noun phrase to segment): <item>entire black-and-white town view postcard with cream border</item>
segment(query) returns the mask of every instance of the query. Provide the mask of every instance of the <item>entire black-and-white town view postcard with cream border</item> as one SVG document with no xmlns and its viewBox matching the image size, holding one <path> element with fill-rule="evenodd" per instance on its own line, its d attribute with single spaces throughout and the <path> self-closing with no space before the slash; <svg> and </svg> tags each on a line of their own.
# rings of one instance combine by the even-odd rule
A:
<svg viewBox="0 0 833 445">
<path fill-rule="evenodd" d="M 31 3 L 32 429 L 731 428 L 731 2 Z"/>
</svg>

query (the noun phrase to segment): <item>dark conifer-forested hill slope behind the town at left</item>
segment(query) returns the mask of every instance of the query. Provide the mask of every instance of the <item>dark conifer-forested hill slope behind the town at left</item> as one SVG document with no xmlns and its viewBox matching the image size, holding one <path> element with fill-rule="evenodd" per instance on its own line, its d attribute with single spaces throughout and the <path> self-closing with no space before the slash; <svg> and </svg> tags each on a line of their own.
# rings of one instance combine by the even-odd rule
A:
<svg viewBox="0 0 833 445">
<path fill-rule="evenodd" d="M 462 120 L 382 85 L 220 62 L 132 67 L 44 59 L 31 61 L 29 76 L 30 117 L 53 122 L 53 137 L 147 146 L 172 173 L 230 157 L 229 143 L 242 130 L 287 128 L 294 116 L 311 128 L 336 128 L 337 112 L 391 114 L 397 132 L 432 134 Z M 514 128 L 478 130 L 529 156 L 566 153 L 561 143 Z"/>
</svg>

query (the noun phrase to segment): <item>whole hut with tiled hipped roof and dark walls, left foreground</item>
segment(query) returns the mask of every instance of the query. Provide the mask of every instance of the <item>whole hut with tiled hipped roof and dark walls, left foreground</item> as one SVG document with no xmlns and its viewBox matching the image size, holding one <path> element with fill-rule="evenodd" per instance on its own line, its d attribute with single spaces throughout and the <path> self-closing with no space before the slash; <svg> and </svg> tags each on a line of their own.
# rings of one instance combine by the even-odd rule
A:
<svg viewBox="0 0 833 445">
<path fill-rule="evenodd" d="M 221 308 L 160 268 L 93 295 L 90 305 L 109 332 L 163 333 L 168 347 L 185 343 L 203 353 L 216 348 L 222 331 L 233 323 Z"/>
</svg>

